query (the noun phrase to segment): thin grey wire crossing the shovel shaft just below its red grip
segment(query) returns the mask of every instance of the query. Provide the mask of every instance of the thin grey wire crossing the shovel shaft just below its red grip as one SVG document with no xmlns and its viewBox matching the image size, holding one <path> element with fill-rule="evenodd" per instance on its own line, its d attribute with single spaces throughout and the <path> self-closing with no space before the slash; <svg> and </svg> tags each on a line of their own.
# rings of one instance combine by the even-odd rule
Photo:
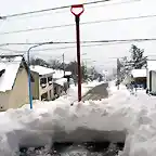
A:
<svg viewBox="0 0 156 156">
<path fill-rule="evenodd" d="M 133 16 L 133 17 L 122 17 L 122 18 L 101 20 L 101 21 L 92 21 L 92 22 L 83 22 L 83 23 L 80 23 L 80 25 L 100 24 L 100 23 L 105 23 L 105 22 L 120 22 L 120 21 L 130 21 L 130 20 L 152 18 L 152 17 L 156 17 L 156 14 Z M 37 30 L 47 30 L 47 29 L 70 27 L 70 26 L 75 26 L 75 24 L 65 24 L 65 25 L 56 25 L 56 26 L 49 26 L 49 27 L 21 29 L 21 30 L 15 30 L 15 31 L 4 31 L 4 32 L 0 32 L 0 35 L 20 34 L 20 32 L 37 31 Z"/>
</svg>

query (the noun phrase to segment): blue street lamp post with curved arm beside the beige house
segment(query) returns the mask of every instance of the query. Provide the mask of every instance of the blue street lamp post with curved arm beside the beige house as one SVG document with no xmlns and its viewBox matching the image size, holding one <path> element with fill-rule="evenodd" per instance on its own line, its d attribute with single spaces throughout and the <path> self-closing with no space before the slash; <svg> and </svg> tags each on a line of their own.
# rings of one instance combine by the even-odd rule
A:
<svg viewBox="0 0 156 156">
<path fill-rule="evenodd" d="M 32 46 L 28 49 L 27 51 L 27 63 L 28 63 L 28 94 L 29 94 L 29 104 L 30 104 L 30 109 L 32 109 L 32 94 L 31 94 L 31 81 L 30 81 L 30 50 L 43 44 L 52 44 L 54 42 L 42 42 L 36 46 Z"/>
</svg>

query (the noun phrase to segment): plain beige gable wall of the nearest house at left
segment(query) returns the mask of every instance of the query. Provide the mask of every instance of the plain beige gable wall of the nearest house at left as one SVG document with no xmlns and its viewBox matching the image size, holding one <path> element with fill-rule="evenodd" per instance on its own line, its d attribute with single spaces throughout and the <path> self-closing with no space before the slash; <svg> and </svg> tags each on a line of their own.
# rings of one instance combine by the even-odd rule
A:
<svg viewBox="0 0 156 156">
<path fill-rule="evenodd" d="M 9 108 L 17 108 L 29 103 L 28 75 L 25 68 L 18 70 L 12 91 L 10 91 Z"/>
</svg>

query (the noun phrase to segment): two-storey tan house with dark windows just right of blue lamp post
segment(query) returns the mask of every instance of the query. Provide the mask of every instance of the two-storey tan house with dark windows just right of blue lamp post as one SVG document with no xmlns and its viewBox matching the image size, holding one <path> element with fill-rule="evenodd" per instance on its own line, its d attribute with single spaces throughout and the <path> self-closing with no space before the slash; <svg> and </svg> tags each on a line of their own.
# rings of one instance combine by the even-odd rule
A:
<svg viewBox="0 0 156 156">
<path fill-rule="evenodd" d="M 35 82 L 32 87 L 32 99 L 40 101 L 54 100 L 53 69 L 43 66 L 30 66 Z"/>
</svg>

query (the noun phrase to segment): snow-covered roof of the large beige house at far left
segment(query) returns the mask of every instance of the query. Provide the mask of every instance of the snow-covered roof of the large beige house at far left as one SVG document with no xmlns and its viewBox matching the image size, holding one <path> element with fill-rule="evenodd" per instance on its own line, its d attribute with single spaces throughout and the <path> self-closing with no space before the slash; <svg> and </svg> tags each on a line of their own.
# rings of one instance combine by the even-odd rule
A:
<svg viewBox="0 0 156 156">
<path fill-rule="evenodd" d="M 22 60 L 22 56 L 0 60 L 0 73 L 3 73 L 0 76 L 0 91 L 12 90 Z"/>
</svg>

